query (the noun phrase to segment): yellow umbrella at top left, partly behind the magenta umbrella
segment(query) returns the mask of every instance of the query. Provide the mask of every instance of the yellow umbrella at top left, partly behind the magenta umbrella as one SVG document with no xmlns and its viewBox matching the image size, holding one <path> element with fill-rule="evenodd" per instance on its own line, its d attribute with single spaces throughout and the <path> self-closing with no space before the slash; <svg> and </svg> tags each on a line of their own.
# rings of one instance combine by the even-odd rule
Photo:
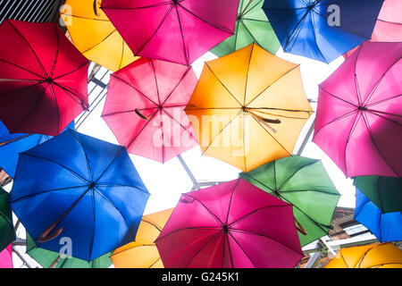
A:
<svg viewBox="0 0 402 286">
<path fill-rule="evenodd" d="M 71 40 L 88 60 L 117 71 L 138 59 L 100 9 L 100 0 L 67 0 L 61 11 Z"/>
</svg>

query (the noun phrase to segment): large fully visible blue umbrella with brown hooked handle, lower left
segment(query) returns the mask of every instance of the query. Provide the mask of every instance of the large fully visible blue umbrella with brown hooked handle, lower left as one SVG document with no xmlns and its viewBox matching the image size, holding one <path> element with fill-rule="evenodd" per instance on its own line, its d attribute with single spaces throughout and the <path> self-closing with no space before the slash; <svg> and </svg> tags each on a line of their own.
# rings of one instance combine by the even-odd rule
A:
<svg viewBox="0 0 402 286">
<path fill-rule="evenodd" d="M 20 154 L 10 205 L 38 247 L 90 261 L 135 240 L 148 197 L 124 147 L 65 130 Z"/>
</svg>

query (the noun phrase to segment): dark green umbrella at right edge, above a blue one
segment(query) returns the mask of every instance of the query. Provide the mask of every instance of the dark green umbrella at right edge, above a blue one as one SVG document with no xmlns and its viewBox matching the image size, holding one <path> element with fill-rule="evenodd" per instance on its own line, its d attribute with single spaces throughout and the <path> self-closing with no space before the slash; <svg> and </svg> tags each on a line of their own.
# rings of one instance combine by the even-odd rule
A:
<svg viewBox="0 0 402 286">
<path fill-rule="evenodd" d="M 381 209 L 381 213 L 402 211 L 402 178 L 361 176 L 353 184 Z"/>
</svg>

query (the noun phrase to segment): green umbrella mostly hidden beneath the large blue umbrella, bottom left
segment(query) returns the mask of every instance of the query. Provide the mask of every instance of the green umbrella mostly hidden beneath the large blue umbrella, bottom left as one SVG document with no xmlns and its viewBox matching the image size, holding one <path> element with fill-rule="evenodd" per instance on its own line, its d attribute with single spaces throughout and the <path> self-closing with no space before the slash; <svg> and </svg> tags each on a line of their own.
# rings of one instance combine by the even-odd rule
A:
<svg viewBox="0 0 402 286">
<path fill-rule="evenodd" d="M 39 248 L 27 233 L 27 254 L 44 268 L 107 268 L 112 265 L 112 253 L 108 252 L 89 262 L 75 257 L 62 258 L 58 252 Z"/>
</svg>

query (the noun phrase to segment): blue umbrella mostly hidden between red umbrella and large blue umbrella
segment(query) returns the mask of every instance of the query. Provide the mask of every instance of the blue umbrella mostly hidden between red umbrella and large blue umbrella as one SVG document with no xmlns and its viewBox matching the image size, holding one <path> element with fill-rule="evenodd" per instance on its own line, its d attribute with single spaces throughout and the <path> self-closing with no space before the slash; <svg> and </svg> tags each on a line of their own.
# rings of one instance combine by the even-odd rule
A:
<svg viewBox="0 0 402 286">
<path fill-rule="evenodd" d="M 74 129 L 74 122 L 71 122 L 67 128 Z M 17 168 L 18 154 L 51 138 L 52 136 L 42 134 L 10 133 L 3 122 L 0 122 L 0 167 L 13 178 Z"/>
</svg>

